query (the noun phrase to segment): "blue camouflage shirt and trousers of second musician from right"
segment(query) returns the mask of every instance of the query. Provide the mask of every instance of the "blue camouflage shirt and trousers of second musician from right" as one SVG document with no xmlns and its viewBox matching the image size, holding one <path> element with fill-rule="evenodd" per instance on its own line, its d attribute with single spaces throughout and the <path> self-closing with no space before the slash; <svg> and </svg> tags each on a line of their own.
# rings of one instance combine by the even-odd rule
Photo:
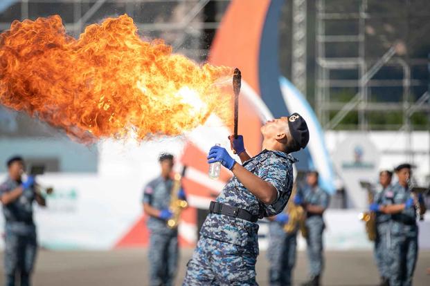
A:
<svg viewBox="0 0 430 286">
<path fill-rule="evenodd" d="M 373 202 L 382 205 L 393 204 L 394 193 L 392 186 L 385 189 L 382 187 L 375 193 Z M 381 277 L 389 278 L 391 267 L 391 231 L 390 231 L 391 215 L 386 213 L 376 213 L 376 240 L 375 240 L 375 260 Z"/>
</svg>

